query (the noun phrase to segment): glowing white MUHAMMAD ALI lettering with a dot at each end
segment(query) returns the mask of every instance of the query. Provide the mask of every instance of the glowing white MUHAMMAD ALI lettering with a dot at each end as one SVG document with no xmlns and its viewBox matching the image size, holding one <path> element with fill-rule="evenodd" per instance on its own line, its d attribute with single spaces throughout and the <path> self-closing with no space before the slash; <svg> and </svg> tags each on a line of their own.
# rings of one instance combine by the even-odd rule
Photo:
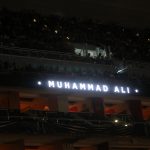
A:
<svg viewBox="0 0 150 150">
<path fill-rule="evenodd" d="M 42 86 L 42 81 L 38 81 L 37 84 Z M 93 91 L 101 93 L 118 93 L 118 94 L 130 94 L 139 93 L 138 89 L 132 89 L 129 86 L 109 86 L 108 84 L 99 83 L 85 83 L 85 82 L 71 82 L 61 80 L 48 80 L 46 86 L 51 89 L 66 89 L 74 91 Z"/>
</svg>

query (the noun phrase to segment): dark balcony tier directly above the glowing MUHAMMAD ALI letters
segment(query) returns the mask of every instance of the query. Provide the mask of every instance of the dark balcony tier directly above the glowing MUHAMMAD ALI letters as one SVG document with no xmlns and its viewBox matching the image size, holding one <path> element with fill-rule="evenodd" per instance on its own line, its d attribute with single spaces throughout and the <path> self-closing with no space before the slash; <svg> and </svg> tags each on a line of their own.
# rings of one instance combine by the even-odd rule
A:
<svg viewBox="0 0 150 150">
<path fill-rule="evenodd" d="M 26 77 L 30 76 L 38 80 L 44 74 L 45 77 L 69 77 L 70 79 L 76 77 L 85 81 L 102 80 L 102 82 L 126 82 L 133 85 L 144 83 L 149 86 L 149 65 L 134 61 L 127 61 L 126 64 L 123 64 L 114 59 L 111 63 L 106 63 L 106 60 L 99 64 L 72 54 L 6 46 L 0 47 L 0 57 L 1 76 L 7 74 L 8 79 L 13 74 L 15 76 L 26 74 Z M 15 78 L 13 81 L 15 82 Z"/>
</svg>

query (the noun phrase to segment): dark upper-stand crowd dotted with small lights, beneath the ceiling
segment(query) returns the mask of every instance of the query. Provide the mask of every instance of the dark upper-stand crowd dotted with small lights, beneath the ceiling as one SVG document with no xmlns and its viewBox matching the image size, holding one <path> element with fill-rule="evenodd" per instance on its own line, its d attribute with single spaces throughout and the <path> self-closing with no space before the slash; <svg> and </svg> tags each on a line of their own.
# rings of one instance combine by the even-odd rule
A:
<svg viewBox="0 0 150 150">
<path fill-rule="evenodd" d="M 112 58 L 149 61 L 150 29 L 127 28 L 102 24 L 99 20 L 83 20 L 57 15 L 43 16 L 33 11 L 0 10 L 0 44 L 3 46 L 40 49 L 75 55 L 68 43 L 87 43 L 105 47 L 107 57 L 98 56 L 98 63 Z M 79 56 L 80 57 L 80 56 Z M 74 59 L 79 59 L 74 57 Z M 72 58 L 71 58 L 72 59 Z M 84 58 L 86 61 L 95 60 Z"/>
</svg>

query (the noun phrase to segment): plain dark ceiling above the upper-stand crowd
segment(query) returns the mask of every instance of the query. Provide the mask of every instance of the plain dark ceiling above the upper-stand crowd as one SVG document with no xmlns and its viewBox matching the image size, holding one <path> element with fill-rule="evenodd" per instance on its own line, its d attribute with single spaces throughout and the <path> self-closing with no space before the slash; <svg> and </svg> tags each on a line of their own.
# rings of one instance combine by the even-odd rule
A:
<svg viewBox="0 0 150 150">
<path fill-rule="evenodd" d="M 150 26 L 149 0 L 1 0 L 0 7 L 40 13 L 98 18 L 137 27 Z"/>
</svg>

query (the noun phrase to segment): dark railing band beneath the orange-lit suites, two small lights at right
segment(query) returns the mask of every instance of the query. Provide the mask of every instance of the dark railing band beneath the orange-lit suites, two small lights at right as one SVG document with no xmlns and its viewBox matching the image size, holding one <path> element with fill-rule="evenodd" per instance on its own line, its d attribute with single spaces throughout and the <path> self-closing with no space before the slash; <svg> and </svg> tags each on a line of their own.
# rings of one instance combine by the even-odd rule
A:
<svg viewBox="0 0 150 150">
<path fill-rule="evenodd" d="M 76 114 L 77 115 L 77 114 Z M 30 111 L 26 113 L 17 110 L 0 110 L 0 132 L 34 132 L 48 134 L 72 133 L 75 135 L 87 134 L 106 134 L 106 135 L 131 135 L 131 136 L 150 136 L 149 122 L 128 122 L 119 120 L 114 122 L 112 118 L 88 120 L 67 117 L 64 113 L 50 113 L 44 111 Z M 125 125 L 125 123 L 127 125 Z M 18 132 L 18 131 L 17 131 Z"/>
</svg>

